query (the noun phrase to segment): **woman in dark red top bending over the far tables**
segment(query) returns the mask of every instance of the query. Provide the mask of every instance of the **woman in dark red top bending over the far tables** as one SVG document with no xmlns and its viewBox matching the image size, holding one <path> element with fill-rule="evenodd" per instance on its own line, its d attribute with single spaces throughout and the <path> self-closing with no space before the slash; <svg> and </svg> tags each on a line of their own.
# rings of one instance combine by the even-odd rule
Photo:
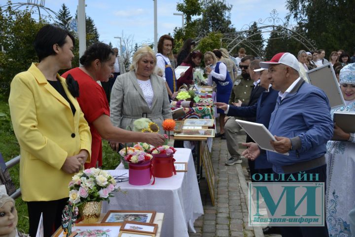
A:
<svg viewBox="0 0 355 237">
<path fill-rule="evenodd" d="M 202 53 L 199 51 L 193 51 L 187 55 L 186 59 L 181 63 L 180 66 L 189 66 L 185 74 L 178 79 L 178 87 L 182 84 L 190 85 L 193 84 L 193 71 L 200 65 L 202 59 Z"/>
</svg>

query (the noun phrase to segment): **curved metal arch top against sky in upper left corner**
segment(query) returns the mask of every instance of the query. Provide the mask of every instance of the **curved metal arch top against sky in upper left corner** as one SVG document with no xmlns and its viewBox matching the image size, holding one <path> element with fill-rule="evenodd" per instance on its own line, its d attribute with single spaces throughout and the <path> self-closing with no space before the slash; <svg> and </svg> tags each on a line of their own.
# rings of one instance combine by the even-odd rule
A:
<svg viewBox="0 0 355 237">
<path fill-rule="evenodd" d="M 59 16 L 58 13 L 48 7 L 45 7 L 44 4 L 45 0 L 27 0 L 27 2 L 16 2 L 2 5 L 0 6 L 0 8 L 6 9 L 9 5 L 11 5 L 11 8 L 13 10 L 20 10 L 21 7 L 26 7 L 26 9 L 28 9 L 32 13 L 38 12 L 38 20 L 42 19 L 43 17 L 47 17 L 55 23 L 56 17 Z M 46 12 L 46 14 L 42 14 L 41 10 Z"/>
</svg>

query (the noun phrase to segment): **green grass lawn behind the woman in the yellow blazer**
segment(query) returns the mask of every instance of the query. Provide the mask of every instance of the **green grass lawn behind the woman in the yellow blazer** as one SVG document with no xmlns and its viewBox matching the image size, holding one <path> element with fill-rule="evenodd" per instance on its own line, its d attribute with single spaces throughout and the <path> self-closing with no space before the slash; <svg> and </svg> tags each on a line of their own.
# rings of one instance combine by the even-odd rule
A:
<svg viewBox="0 0 355 237">
<path fill-rule="evenodd" d="M 12 130 L 9 106 L 7 98 L 0 96 L 0 152 L 8 161 L 15 158 L 20 154 L 20 147 L 16 140 L 15 134 Z M 107 142 L 103 142 L 103 169 L 114 169 L 119 164 L 119 156 L 116 152 L 113 152 L 108 146 Z M 16 188 L 20 187 L 19 181 L 19 164 L 13 166 L 9 170 L 11 179 L 14 182 Z M 69 191 L 68 191 L 69 192 Z M 69 193 L 68 193 L 69 194 Z M 18 212 L 18 224 L 17 228 L 20 232 L 28 233 L 29 218 L 27 213 L 27 205 L 21 199 L 16 199 L 16 209 Z"/>
</svg>

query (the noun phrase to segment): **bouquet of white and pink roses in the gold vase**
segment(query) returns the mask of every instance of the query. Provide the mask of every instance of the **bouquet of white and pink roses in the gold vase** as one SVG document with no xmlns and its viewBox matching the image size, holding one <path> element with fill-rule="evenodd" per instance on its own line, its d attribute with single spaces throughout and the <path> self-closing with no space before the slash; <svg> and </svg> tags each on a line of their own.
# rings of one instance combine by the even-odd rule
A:
<svg viewBox="0 0 355 237">
<path fill-rule="evenodd" d="M 116 181 L 106 171 L 98 168 L 90 168 L 75 174 L 69 183 L 69 201 L 78 206 L 88 201 L 109 201 L 115 188 Z"/>
</svg>

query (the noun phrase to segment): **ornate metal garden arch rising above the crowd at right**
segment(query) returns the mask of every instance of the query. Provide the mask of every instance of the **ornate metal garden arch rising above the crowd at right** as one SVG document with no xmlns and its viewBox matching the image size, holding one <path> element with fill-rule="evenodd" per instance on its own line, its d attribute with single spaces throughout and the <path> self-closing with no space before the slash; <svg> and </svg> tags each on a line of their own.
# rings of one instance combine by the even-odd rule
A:
<svg viewBox="0 0 355 237">
<path fill-rule="evenodd" d="M 260 58 L 264 58 L 264 48 L 259 48 L 255 45 L 255 42 L 260 42 L 260 40 L 252 40 L 252 37 L 259 34 L 267 34 L 271 32 L 278 33 L 282 36 L 274 39 L 291 38 L 293 40 L 296 40 L 297 42 L 300 42 L 308 51 L 317 49 L 315 40 L 308 39 L 304 34 L 296 32 L 294 29 L 292 29 L 292 26 L 285 24 L 283 19 L 279 18 L 278 15 L 279 13 L 277 12 L 277 10 L 273 9 L 270 12 L 270 17 L 267 17 L 266 19 L 260 18 L 258 22 L 251 22 L 249 25 L 244 25 L 237 32 L 224 33 L 222 41 L 227 43 L 227 49 L 229 53 L 231 53 L 237 46 L 242 45 L 249 47 L 250 50 L 254 53 L 254 55 Z M 252 26 L 254 23 L 257 24 L 257 27 Z M 223 29 L 219 30 L 223 32 Z M 251 32 L 254 31 L 260 32 L 249 35 Z M 198 42 L 204 36 L 206 36 L 206 32 L 200 32 L 195 41 Z M 273 40 L 273 38 L 269 38 L 266 40 Z"/>
</svg>

